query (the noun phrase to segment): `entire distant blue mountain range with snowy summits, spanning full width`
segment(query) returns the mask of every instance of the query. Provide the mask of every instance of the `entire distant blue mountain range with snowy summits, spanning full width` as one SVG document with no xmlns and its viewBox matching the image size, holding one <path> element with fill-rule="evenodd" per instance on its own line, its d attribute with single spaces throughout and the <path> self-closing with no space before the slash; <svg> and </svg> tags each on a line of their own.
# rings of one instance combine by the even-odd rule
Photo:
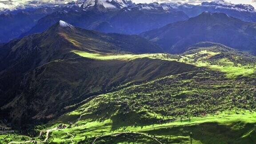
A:
<svg viewBox="0 0 256 144">
<path fill-rule="evenodd" d="M 188 20 L 189 17 L 198 16 L 205 11 L 222 12 L 243 21 L 256 22 L 256 11 L 251 5 L 231 4 L 223 0 L 203 2 L 200 5 L 134 4 L 130 0 L 78 0 L 58 6 L 45 5 L 39 9 L 29 7 L 13 12 L 0 12 L 1 21 L 11 24 L 8 27 L 6 23 L 0 24 L 0 33 L 4 33 L 4 36 L 0 37 L 0 43 L 44 32 L 59 20 L 67 21 L 76 27 L 101 32 L 140 34 L 169 23 Z M 18 22 L 24 25 L 17 25 Z"/>
</svg>

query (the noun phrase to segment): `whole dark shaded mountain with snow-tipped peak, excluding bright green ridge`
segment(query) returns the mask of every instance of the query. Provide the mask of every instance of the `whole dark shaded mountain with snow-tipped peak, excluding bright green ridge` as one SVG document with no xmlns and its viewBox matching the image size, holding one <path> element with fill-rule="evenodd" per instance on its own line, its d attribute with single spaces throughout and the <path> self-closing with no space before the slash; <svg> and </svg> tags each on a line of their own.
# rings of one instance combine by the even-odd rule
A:
<svg viewBox="0 0 256 144">
<path fill-rule="evenodd" d="M 104 34 L 64 21 L 42 34 L 12 40 L 0 49 L 1 117 L 16 124 L 32 117 L 48 119 L 64 112 L 65 106 L 121 84 L 195 69 L 192 65 L 148 58 L 128 62 L 93 60 L 73 50 L 101 55 L 161 51 L 139 36 Z"/>
</svg>

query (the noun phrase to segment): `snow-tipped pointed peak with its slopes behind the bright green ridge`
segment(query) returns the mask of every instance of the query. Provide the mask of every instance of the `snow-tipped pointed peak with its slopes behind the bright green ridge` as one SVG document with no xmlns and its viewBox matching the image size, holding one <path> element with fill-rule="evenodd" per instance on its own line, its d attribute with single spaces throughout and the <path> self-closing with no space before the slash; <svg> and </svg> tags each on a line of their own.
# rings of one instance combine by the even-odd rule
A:
<svg viewBox="0 0 256 144">
<path fill-rule="evenodd" d="M 135 35 L 104 34 L 95 31 L 76 28 L 62 20 L 53 25 L 46 32 L 24 37 L 21 40 L 12 40 L 1 48 L 1 68 L 3 71 L 16 62 L 25 62 L 22 59 L 31 59 L 35 53 L 38 60 L 29 60 L 31 68 L 53 60 L 69 56 L 71 50 L 104 53 L 152 53 L 162 49 Z M 30 70 L 30 64 L 27 70 Z M 17 65 L 18 66 L 18 65 Z M 19 66 L 18 66 L 19 67 Z"/>
</svg>

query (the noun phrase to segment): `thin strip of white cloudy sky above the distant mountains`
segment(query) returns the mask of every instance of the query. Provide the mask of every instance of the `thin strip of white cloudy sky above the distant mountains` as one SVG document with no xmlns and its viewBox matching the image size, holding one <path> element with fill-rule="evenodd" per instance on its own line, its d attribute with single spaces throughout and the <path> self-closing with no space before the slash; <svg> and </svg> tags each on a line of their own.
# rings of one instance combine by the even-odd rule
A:
<svg viewBox="0 0 256 144">
<path fill-rule="evenodd" d="M 67 3 L 73 0 L 0 0 L 0 9 L 1 8 L 17 8 L 24 7 L 24 4 L 34 4 L 41 5 L 44 3 L 50 4 L 60 4 Z M 202 1 L 212 1 L 212 0 L 132 0 L 135 3 L 152 3 L 152 2 L 184 2 L 189 4 L 200 4 Z M 226 0 L 227 2 L 231 2 L 233 4 L 251 4 L 256 8 L 256 0 Z M 254 2 L 253 2 L 254 1 Z"/>
</svg>

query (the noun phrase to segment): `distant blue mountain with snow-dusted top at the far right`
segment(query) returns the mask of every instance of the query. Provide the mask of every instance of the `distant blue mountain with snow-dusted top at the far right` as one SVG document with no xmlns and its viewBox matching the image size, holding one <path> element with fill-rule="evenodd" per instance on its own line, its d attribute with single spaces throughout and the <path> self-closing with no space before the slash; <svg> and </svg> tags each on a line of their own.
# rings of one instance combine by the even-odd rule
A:
<svg viewBox="0 0 256 144">
<path fill-rule="evenodd" d="M 186 4 L 168 4 L 172 5 L 177 11 L 185 12 L 189 17 L 198 16 L 200 13 L 208 12 L 222 12 L 228 16 L 238 18 L 243 21 L 256 22 L 256 11 L 252 5 L 249 4 L 232 4 L 224 0 L 215 0 L 212 2 L 202 2 L 200 5 L 187 6 Z"/>
</svg>

